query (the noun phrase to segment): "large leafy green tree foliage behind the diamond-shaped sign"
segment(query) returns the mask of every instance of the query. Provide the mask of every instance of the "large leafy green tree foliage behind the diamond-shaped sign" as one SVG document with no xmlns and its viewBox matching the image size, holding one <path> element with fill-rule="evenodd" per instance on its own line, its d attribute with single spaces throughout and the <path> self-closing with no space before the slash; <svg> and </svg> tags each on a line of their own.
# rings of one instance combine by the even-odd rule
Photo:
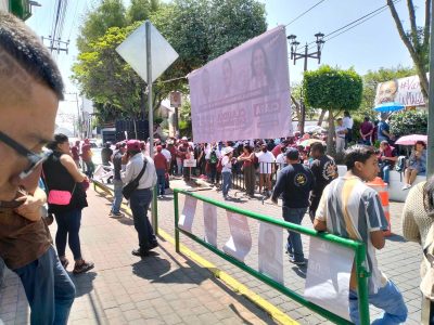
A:
<svg viewBox="0 0 434 325">
<path fill-rule="evenodd" d="M 187 79 L 162 80 L 183 77 L 267 29 L 264 4 L 256 0 L 176 0 L 168 4 L 131 0 L 127 13 L 120 0 L 103 0 L 80 29 L 80 53 L 73 68 L 81 92 L 98 103 L 101 120 L 124 115 L 138 117 L 146 106 L 144 82 L 115 52 L 141 24 L 137 21 L 146 18 L 179 53 L 179 58 L 154 83 L 154 109 L 170 91 L 188 92 Z"/>
</svg>

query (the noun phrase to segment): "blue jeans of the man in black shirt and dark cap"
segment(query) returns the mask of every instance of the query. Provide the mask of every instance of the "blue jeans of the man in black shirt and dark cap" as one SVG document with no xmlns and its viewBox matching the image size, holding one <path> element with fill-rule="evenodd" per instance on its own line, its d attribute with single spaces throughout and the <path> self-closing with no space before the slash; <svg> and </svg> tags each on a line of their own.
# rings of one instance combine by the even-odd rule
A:
<svg viewBox="0 0 434 325">
<path fill-rule="evenodd" d="M 288 208 L 283 207 L 283 219 L 286 222 L 302 224 L 303 217 L 306 213 L 306 208 Z M 294 260 L 299 262 L 305 260 L 303 253 L 302 235 L 296 232 L 288 231 L 288 252 L 294 256 Z"/>
</svg>

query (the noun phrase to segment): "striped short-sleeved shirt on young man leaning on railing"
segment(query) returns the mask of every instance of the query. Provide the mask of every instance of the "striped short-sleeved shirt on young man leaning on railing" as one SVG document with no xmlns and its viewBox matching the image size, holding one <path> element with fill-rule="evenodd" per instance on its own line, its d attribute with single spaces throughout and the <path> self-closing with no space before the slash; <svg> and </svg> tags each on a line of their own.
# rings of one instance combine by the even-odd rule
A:
<svg viewBox="0 0 434 325">
<path fill-rule="evenodd" d="M 329 233 L 366 244 L 369 291 L 375 294 L 383 287 L 387 280 L 379 270 L 370 233 L 387 230 L 387 220 L 375 190 L 356 176 L 339 178 L 326 186 L 315 218 L 326 222 Z"/>
</svg>

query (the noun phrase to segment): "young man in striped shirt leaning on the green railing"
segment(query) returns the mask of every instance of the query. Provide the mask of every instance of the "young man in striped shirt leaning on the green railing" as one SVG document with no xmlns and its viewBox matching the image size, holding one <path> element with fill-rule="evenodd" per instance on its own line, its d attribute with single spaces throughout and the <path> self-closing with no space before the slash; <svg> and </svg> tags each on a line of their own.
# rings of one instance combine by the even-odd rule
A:
<svg viewBox="0 0 434 325">
<path fill-rule="evenodd" d="M 366 184 L 373 181 L 380 171 L 375 150 L 354 145 L 345 151 L 344 160 L 348 171 L 326 186 L 314 227 L 367 245 L 366 268 L 371 273 L 369 302 L 384 310 L 384 314 L 374 324 L 405 323 L 407 307 L 403 295 L 380 271 L 375 257 L 375 249 L 384 247 L 383 231 L 388 227 L 376 191 Z M 349 316 L 355 324 L 360 324 L 354 265 L 349 280 Z"/>
</svg>

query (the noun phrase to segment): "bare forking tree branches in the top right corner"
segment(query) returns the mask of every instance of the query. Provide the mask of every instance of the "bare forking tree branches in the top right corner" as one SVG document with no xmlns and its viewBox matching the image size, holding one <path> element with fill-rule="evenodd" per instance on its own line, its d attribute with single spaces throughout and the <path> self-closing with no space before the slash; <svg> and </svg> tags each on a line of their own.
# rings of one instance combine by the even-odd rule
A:
<svg viewBox="0 0 434 325">
<path fill-rule="evenodd" d="M 403 22 L 395 8 L 393 0 L 386 0 L 391 10 L 392 17 L 395 21 L 396 28 L 398 29 L 399 37 L 406 46 L 410 56 L 414 63 L 416 72 L 419 76 L 421 91 L 425 103 L 427 103 L 429 81 L 426 73 L 430 64 L 430 23 L 431 23 L 431 0 L 425 0 L 424 8 L 424 26 L 420 27 L 416 24 L 416 9 L 412 0 L 407 0 L 408 15 L 410 18 L 410 30 L 404 29 Z"/>
</svg>

